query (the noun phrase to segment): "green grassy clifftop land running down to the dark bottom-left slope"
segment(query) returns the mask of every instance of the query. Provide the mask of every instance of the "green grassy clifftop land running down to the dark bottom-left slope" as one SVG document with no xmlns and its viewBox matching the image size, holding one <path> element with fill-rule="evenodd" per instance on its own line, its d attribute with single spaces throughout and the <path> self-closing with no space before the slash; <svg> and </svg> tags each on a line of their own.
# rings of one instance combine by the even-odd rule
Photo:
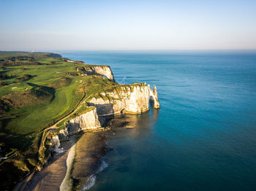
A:
<svg viewBox="0 0 256 191">
<path fill-rule="evenodd" d="M 0 163 L 0 176 L 7 174 L 0 187 L 10 189 L 37 166 L 45 128 L 74 112 L 89 95 L 116 85 L 84 76 L 83 66 L 53 53 L 0 52 L 0 154 L 15 153 Z M 81 106 L 71 117 L 86 109 Z"/>
</svg>

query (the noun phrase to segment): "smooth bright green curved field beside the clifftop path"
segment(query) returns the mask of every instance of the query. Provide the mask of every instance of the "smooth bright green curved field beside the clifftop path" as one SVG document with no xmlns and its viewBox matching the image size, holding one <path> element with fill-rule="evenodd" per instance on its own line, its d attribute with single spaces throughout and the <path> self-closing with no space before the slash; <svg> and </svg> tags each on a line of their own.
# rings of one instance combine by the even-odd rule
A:
<svg viewBox="0 0 256 191">
<path fill-rule="evenodd" d="M 18 118 L 7 125 L 7 130 L 19 134 L 37 133 L 39 130 L 48 127 L 54 121 L 68 114 L 78 104 L 83 96 L 77 92 L 78 82 L 72 79 L 67 87 L 56 90 L 55 98 L 50 103 L 35 106 L 26 106 Z"/>
</svg>

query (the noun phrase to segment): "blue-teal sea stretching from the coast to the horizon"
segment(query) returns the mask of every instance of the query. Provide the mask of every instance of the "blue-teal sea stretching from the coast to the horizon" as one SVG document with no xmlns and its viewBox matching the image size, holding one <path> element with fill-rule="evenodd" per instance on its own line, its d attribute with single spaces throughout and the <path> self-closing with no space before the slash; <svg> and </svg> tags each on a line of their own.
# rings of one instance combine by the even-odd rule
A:
<svg viewBox="0 0 256 191">
<path fill-rule="evenodd" d="M 118 83 L 157 85 L 161 109 L 108 137 L 108 167 L 90 190 L 256 190 L 255 52 L 63 56 L 109 65 Z"/>
</svg>

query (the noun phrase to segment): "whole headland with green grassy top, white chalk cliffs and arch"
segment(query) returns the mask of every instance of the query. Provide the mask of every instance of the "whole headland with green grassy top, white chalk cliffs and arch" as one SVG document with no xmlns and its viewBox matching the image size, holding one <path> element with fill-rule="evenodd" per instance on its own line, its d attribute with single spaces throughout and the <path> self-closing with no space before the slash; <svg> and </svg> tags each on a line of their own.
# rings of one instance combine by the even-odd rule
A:
<svg viewBox="0 0 256 191">
<path fill-rule="evenodd" d="M 62 166 L 74 145 L 86 145 L 83 149 L 91 155 L 98 149 L 103 155 L 108 149 L 102 132 L 111 130 L 110 119 L 147 112 L 149 102 L 159 108 L 157 87 L 119 85 L 109 66 L 71 61 L 54 53 L 0 52 L 0 79 L 0 187 L 5 190 L 16 184 L 15 190 L 37 190 L 43 184 L 34 181 L 41 179 L 37 172 L 47 168 L 59 182 L 72 174 L 74 186 L 79 172 Z M 79 140 L 83 144 L 75 144 Z M 88 158 L 86 168 L 97 165 L 93 158 Z M 54 165 L 69 174 L 57 176 Z"/>
</svg>

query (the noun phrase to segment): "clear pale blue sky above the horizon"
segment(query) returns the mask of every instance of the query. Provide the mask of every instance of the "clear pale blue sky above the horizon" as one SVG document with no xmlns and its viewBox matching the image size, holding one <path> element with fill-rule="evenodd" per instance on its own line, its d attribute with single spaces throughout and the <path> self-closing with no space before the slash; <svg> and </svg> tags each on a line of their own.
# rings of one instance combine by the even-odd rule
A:
<svg viewBox="0 0 256 191">
<path fill-rule="evenodd" d="M 256 1 L 0 0 L 0 50 L 256 49 Z"/>
</svg>

